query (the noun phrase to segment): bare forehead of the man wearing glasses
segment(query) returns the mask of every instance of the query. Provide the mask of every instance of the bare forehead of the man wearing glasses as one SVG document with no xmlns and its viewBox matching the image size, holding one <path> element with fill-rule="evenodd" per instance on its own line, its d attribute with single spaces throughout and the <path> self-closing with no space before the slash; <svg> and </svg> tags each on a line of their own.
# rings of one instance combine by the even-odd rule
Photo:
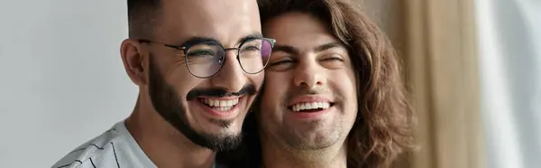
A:
<svg viewBox="0 0 541 168">
<path fill-rule="evenodd" d="M 179 42 L 194 36 L 234 44 L 248 34 L 261 33 L 255 0 L 162 0 L 160 25 L 155 34 L 162 41 Z M 232 43 L 233 42 L 233 43 Z"/>
</svg>

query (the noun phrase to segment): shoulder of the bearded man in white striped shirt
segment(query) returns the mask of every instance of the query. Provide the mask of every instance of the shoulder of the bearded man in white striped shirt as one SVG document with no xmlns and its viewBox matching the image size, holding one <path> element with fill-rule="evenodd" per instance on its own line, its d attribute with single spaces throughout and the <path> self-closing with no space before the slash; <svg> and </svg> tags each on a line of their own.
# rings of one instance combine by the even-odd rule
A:
<svg viewBox="0 0 541 168">
<path fill-rule="evenodd" d="M 52 168 L 117 167 L 119 164 L 117 150 L 122 149 L 117 149 L 118 146 L 115 145 L 121 145 L 123 139 L 113 127 L 87 143 L 79 145 L 52 165 Z"/>
</svg>

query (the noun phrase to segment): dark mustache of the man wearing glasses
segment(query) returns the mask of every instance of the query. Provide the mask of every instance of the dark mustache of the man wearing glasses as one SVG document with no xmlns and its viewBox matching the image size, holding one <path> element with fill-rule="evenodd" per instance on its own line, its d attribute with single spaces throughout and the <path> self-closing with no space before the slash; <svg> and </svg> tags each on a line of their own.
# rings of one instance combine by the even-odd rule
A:
<svg viewBox="0 0 541 168">
<path fill-rule="evenodd" d="M 191 101 L 196 99 L 197 97 L 223 98 L 232 96 L 255 95 L 256 92 L 257 91 L 255 90 L 255 86 L 253 86 L 252 84 L 245 85 L 243 89 L 239 90 L 238 92 L 229 92 L 227 91 L 227 89 L 219 88 L 192 89 L 188 92 L 188 95 L 186 95 L 186 100 Z"/>
</svg>

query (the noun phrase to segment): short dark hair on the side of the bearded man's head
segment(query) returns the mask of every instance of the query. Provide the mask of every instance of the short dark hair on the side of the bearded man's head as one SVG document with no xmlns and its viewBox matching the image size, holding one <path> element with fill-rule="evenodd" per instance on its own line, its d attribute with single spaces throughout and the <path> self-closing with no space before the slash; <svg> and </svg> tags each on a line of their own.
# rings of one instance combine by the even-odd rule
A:
<svg viewBox="0 0 541 168">
<path fill-rule="evenodd" d="M 157 24 L 161 0 L 128 0 L 130 38 L 151 38 Z"/>
</svg>

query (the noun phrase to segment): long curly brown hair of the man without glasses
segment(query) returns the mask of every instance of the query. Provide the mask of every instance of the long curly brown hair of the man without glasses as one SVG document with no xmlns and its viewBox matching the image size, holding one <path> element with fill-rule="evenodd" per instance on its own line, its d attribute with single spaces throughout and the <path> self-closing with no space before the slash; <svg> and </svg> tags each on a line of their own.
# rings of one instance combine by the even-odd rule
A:
<svg viewBox="0 0 541 168">
<path fill-rule="evenodd" d="M 358 118 L 348 135 L 348 167 L 390 167 L 414 147 L 416 117 L 408 104 L 400 61 L 389 40 L 359 5 L 345 0 L 260 0 L 261 23 L 291 12 L 312 14 L 329 33 L 344 42 L 353 60 L 359 103 Z M 264 26 L 263 26 L 264 29 Z M 264 86 L 263 86 L 264 88 Z M 260 97 L 261 98 L 261 97 Z M 232 167 L 260 167 L 261 146 L 256 121 L 259 100 L 244 122 L 243 145 L 218 154 Z"/>
</svg>

